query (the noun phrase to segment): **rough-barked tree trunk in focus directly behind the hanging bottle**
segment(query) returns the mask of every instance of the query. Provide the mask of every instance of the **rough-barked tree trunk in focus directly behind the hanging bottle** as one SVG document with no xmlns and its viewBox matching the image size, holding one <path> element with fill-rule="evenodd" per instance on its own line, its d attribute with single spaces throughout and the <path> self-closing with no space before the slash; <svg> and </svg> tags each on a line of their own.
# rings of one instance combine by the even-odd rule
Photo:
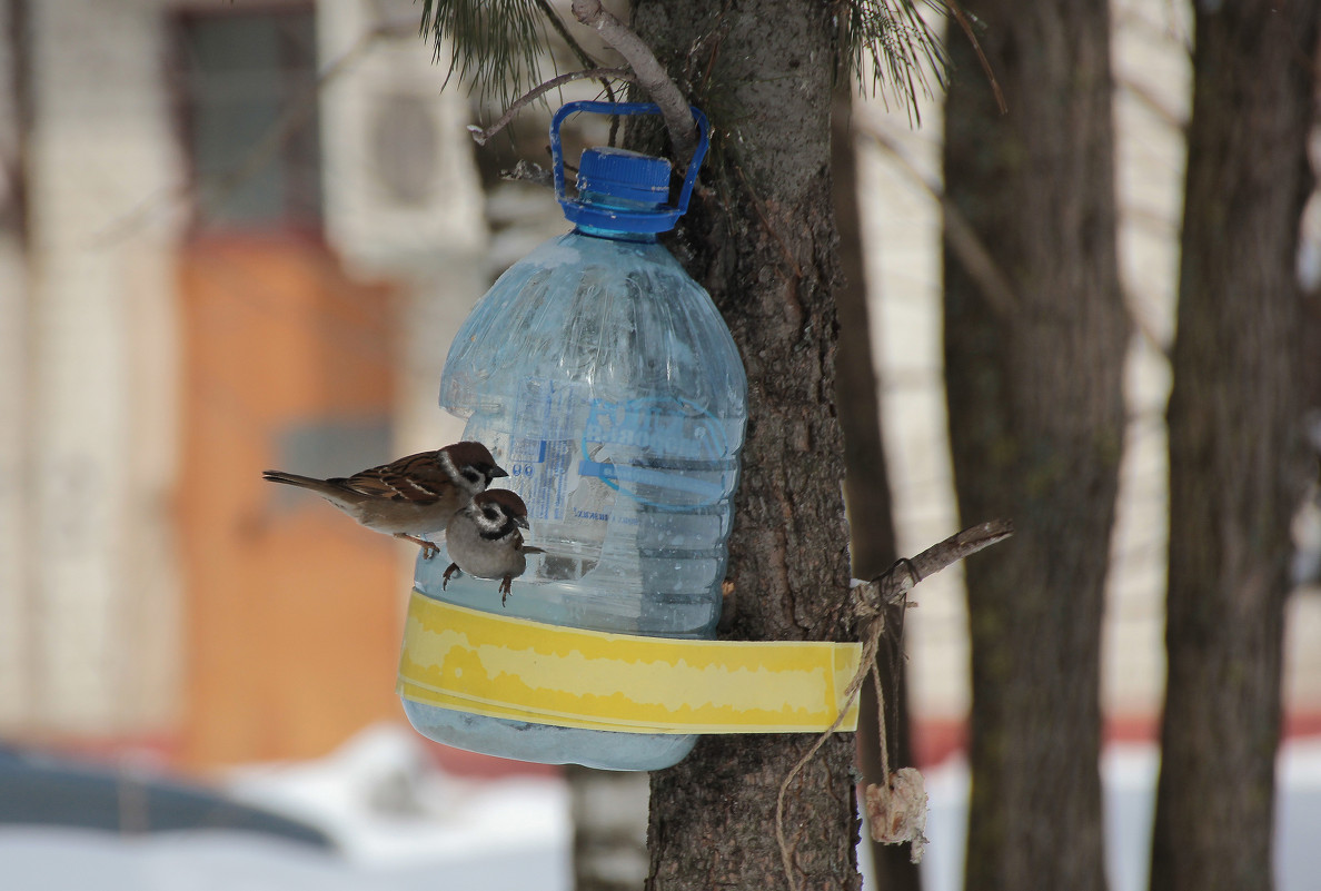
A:
<svg viewBox="0 0 1321 891">
<path fill-rule="evenodd" d="M 748 439 L 721 635 L 845 640 L 848 533 L 835 412 L 839 279 L 830 194 L 828 4 L 642 3 L 634 26 L 712 118 L 719 141 L 679 254 L 715 297 L 748 369 Z M 717 32 L 719 25 L 725 30 Z M 695 41 L 711 37 L 690 58 Z M 687 77 L 686 77 L 687 73 Z M 653 775 L 655 891 L 783 888 L 773 817 L 811 735 L 709 736 Z M 802 888 L 855 890 L 853 738 L 835 735 L 789 792 Z"/>
</svg>

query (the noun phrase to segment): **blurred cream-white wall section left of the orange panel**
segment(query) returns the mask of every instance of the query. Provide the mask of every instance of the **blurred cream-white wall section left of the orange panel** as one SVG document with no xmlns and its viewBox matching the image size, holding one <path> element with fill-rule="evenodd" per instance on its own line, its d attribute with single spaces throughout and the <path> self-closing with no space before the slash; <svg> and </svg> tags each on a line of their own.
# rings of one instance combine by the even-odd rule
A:
<svg viewBox="0 0 1321 891">
<path fill-rule="evenodd" d="M 16 617 L 20 646 L 0 722 L 140 730 L 170 714 L 178 636 L 162 509 L 176 455 L 176 225 L 161 196 L 178 181 L 162 19 L 148 0 L 28 8 L 28 278 L 4 308 L 4 337 L 24 346 L 5 360 L 24 364 L 22 398 L 0 403 L 3 426 L 21 431 L 5 448 L 20 489 L 0 534 L 0 564 L 18 567 L 0 612 Z"/>
</svg>

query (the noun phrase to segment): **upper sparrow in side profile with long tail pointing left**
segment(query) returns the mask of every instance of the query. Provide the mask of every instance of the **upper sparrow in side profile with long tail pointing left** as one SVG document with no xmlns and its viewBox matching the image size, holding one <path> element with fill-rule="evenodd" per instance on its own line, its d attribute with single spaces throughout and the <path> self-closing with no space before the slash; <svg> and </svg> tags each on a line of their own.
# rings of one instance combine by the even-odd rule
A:
<svg viewBox="0 0 1321 891">
<path fill-rule="evenodd" d="M 509 473 L 481 443 L 454 443 L 329 480 L 283 471 L 262 473 L 271 483 L 312 489 L 367 529 L 421 545 L 427 559 L 440 549 L 420 535 L 443 530 L 499 476 Z"/>
</svg>

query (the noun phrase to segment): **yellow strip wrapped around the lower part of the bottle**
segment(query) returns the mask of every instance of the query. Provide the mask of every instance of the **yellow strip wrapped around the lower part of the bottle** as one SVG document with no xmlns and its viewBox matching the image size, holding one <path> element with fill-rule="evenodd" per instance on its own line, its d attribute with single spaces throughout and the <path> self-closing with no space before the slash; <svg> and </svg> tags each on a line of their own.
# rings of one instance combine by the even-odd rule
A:
<svg viewBox="0 0 1321 891">
<path fill-rule="evenodd" d="M 490 718 L 635 734 L 820 732 L 860 644 L 672 640 L 497 616 L 413 591 L 402 697 Z M 857 728 L 857 706 L 839 730 Z"/>
</svg>

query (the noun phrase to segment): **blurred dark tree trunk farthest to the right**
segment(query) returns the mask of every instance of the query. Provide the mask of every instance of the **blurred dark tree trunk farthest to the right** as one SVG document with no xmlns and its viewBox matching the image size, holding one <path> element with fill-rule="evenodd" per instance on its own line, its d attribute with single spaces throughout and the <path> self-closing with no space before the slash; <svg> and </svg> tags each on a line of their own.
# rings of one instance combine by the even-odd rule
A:
<svg viewBox="0 0 1321 891">
<path fill-rule="evenodd" d="M 1156 891 L 1272 887 L 1288 522 L 1303 480 L 1295 258 L 1321 7 L 1207 8 L 1196 19 L 1169 401 Z"/>
</svg>

